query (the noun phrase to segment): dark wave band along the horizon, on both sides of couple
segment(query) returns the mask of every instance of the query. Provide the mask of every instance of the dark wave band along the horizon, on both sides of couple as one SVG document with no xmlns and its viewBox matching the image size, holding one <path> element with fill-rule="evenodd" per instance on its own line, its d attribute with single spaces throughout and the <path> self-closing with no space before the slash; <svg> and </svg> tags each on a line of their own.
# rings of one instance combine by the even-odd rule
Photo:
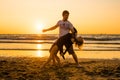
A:
<svg viewBox="0 0 120 80">
<path fill-rule="evenodd" d="M 85 40 L 111 41 L 120 40 L 120 34 L 82 34 Z M 55 40 L 57 34 L 0 34 L 0 39 L 5 40 Z"/>
</svg>

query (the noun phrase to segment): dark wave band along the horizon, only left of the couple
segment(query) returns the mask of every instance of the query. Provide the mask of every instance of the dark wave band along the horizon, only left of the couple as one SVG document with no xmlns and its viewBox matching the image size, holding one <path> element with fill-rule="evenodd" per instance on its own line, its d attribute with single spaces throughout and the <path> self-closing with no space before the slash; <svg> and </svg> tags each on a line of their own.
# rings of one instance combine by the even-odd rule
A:
<svg viewBox="0 0 120 80">
<path fill-rule="evenodd" d="M 57 35 L 52 34 L 1 34 L 0 39 L 6 40 L 53 40 Z"/>
</svg>

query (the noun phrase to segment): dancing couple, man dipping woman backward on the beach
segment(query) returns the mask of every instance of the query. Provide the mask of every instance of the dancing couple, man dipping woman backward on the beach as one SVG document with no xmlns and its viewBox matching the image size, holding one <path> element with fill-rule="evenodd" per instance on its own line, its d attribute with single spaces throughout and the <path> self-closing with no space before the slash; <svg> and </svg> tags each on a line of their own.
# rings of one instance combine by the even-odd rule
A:
<svg viewBox="0 0 120 80">
<path fill-rule="evenodd" d="M 81 65 L 78 62 L 77 55 L 73 50 L 72 44 L 75 43 L 78 48 L 81 48 L 81 46 L 83 45 L 83 39 L 81 37 L 77 37 L 77 30 L 72 25 L 72 23 L 68 21 L 69 12 L 67 10 L 64 10 L 62 16 L 63 19 L 59 20 L 55 26 L 50 27 L 48 29 L 43 29 L 43 32 L 46 32 L 59 27 L 59 38 L 51 46 L 49 50 L 50 56 L 47 62 L 42 66 L 42 68 L 44 68 L 51 60 L 53 60 L 54 65 L 56 64 L 56 61 L 58 62 L 59 66 L 61 65 L 60 59 L 57 56 L 58 51 L 60 51 L 60 55 L 63 57 L 63 59 L 65 59 L 64 55 L 68 51 L 68 53 L 73 56 L 77 67 L 81 67 Z M 64 52 L 63 46 L 66 47 L 66 50 Z"/>
</svg>

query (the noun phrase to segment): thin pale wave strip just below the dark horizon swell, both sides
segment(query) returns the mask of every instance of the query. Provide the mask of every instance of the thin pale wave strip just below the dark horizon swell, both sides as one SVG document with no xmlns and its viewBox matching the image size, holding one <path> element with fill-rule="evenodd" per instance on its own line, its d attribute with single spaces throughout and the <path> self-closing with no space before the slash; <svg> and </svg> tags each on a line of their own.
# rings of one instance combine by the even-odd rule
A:
<svg viewBox="0 0 120 80">
<path fill-rule="evenodd" d="M 55 40 L 0 40 L 0 43 L 24 43 L 24 44 L 52 44 Z M 120 45 L 118 41 L 89 41 L 85 40 L 84 44 L 116 44 Z"/>
</svg>

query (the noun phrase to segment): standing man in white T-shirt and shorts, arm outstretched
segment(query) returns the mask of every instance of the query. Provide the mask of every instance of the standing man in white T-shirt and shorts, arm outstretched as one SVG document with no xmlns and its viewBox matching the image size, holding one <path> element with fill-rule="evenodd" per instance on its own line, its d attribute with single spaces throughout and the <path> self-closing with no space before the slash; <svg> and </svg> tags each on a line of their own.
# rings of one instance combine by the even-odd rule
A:
<svg viewBox="0 0 120 80">
<path fill-rule="evenodd" d="M 55 26 L 50 27 L 48 29 L 44 29 L 43 32 L 54 30 L 57 27 L 59 27 L 59 38 L 62 37 L 62 36 L 64 36 L 64 35 L 66 35 L 66 34 L 68 34 L 70 31 L 72 33 L 74 33 L 75 32 L 74 31 L 74 26 L 72 25 L 71 22 L 68 21 L 69 12 L 67 10 L 63 11 L 62 17 L 63 17 L 63 19 L 59 20 Z M 51 48 L 54 48 L 54 44 L 53 44 L 53 46 Z M 73 56 L 73 58 L 74 58 L 74 60 L 75 60 L 75 62 L 77 64 L 77 67 L 80 67 L 77 55 L 75 54 L 75 52 L 73 50 L 73 45 L 69 48 L 68 53 Z"/>
</svg>

